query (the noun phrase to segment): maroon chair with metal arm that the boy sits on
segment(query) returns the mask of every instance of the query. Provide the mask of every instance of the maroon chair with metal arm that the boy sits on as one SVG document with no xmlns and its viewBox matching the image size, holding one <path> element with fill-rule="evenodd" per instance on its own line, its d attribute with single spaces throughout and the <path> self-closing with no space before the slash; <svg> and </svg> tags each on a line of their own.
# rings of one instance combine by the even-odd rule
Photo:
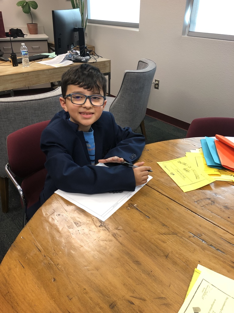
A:
<svg viewBox="0 0 234 313">
<path fill-rule="evenodd" d="M 21 197 L 23 226 L 26 223 L 27 208 L 39 200 L 44 187 L 46 156 L 40 149 L 40 140 L 41 133 L 49 122 L 26 126 L 7 136 L 8 163 L 5 170 Z M 23 178 L 21 185 L 15 176 Z"/>
</svg>

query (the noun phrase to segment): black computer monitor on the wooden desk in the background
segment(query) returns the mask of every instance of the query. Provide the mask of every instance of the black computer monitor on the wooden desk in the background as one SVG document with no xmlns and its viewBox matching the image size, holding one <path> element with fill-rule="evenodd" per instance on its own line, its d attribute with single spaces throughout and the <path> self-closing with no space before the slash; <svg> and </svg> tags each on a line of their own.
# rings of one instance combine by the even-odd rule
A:
<svg viewBox="0 0 234 313">
<path fill-rule="evenodd" d="M 85 56 L 85 28 L 81 27 L 80 9 L 52 10 L 55 53 L 64 54 L 80 46 Z"/>
</svg>

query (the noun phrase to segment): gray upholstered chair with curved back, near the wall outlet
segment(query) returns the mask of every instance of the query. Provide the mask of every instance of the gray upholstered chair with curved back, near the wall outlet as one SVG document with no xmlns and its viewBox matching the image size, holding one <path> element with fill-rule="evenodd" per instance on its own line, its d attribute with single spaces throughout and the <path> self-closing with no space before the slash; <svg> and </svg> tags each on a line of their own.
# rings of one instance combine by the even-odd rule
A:
<svg viewBox="0 0 234 313">
<path fill-rule="evenodd" d="M 149 59 L 140 59 L 136 70 L 126 70 L 122 85 L 115 98 L 106 97 L 104 111 L 110 111 L 116 123 L 129 126 L 135 131 L 139 126 L 146 137 L 144 117 L 149 101 L 156 64 Z"/>
</svg>

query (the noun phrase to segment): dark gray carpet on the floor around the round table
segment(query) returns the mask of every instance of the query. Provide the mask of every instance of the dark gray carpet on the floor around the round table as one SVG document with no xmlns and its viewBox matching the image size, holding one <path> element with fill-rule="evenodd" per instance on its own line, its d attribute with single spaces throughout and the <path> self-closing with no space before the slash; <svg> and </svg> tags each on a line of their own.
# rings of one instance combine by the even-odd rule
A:
<svg viewBox="0 0 234 313">
<path fill-rule="evenodd" d="M 146 143 L 185 138 L 187 131 L 152 117 L 145 117 Z M 140 128 L 136 132 L 141 133 Z M 9 211 L 2 213 L 0 199 L 0 262 L 22 230 L 22 209 L 19 194 L 9 180 Z"/>
</svg>

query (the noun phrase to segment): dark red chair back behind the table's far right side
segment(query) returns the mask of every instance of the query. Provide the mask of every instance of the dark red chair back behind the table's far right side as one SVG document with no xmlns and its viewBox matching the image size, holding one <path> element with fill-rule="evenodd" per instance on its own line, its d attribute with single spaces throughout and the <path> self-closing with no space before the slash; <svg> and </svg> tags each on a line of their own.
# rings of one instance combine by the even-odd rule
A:
<svg viewBox="0 0 234 313">
<path fill-rule="evenodd" d="M 234 136 L 234 118 L 232 117 L 202 117 L 192 121 L 186 138 L 214 137 L 215 135 Z"/>
</svg>

